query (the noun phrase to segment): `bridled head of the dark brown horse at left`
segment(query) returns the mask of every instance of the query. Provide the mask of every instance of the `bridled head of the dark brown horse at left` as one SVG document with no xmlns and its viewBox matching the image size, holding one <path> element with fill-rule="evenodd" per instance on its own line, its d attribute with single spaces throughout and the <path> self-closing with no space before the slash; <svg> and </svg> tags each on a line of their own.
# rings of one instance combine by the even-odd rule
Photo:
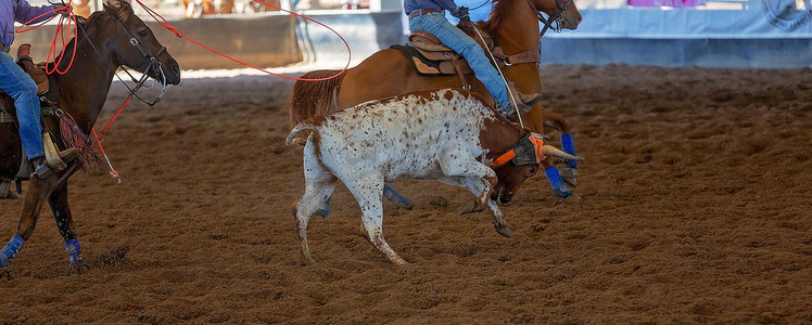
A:
<svg viewBox="0 0 812 325">
<path fill-rule="evenodd" d="M 180 65 L 169 55 L 126 1 L 111 0 L 104 4 L 105 25 L 97 30 L 110 32 L 105 46 L 112 49 L 117 65 L 126 65 L 164 84 L 180 83 Z M 91 16 L 91 18 L 94 18 Z"/>
</svg>

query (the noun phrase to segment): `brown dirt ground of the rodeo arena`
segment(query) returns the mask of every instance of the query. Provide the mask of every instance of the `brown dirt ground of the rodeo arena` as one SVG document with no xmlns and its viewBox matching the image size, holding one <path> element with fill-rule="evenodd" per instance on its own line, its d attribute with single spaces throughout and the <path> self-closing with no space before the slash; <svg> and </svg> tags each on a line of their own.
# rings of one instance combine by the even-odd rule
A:
<svg viewBox="0 0 812 325">
<path fill-rule="evenodd" d="M 386 205 L 384 235 L 405 266 L 366 240 L 343 186 L 310 221 L 317 263 L 299 263 L 291 81 L 187 79 L 130 104 L 104 142 L 123 183 L 71 180 L 91 268 L 72 272 L 43 211 L 0 271 L 0 323 L 812 322 L 812 69 L 541 74 L 586 157 L 581 199 L 529 180 L 505 238 L 489 213 L 456 214 L 464 190 L 398 183 L 417 205 Z M 20 209 L 0 202 L 0 244 Z"/>
</svg>

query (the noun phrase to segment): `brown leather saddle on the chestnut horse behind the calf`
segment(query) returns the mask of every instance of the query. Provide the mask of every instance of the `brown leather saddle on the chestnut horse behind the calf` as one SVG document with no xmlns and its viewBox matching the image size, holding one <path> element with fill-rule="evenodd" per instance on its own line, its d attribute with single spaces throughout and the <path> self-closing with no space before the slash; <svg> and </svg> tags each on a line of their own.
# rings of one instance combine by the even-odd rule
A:
<svg viewBox="0 0 812 325">
<path fill-rule="evenodd" d="M 505 55 L 502 47 L 487 30 L 470 22 L 460 22 L 457 28 L 473 38 L 485 52 L 490 50 L 494 54 L 494 57 L 496 57 L 499 67 L 520 63 L 538 63 L 542 61 L 541 53 L 530 50 L 512 55 Z M 484 43 L 477 34 L 477 30 L 482 35 Z M 433 35 L 424 31 L 416 31 L 409 35 L 408 42 L 405 46 L 395 44 L 390 48 L 403 52 L 420 76 L 447 76 L 456 74 L 460 81 L 462 81 L 462 87 L 470 88 L 465 75 L 472 74 L 473 72 L 468 62 L 457 52 L 442 44 Z"/>
</svg>

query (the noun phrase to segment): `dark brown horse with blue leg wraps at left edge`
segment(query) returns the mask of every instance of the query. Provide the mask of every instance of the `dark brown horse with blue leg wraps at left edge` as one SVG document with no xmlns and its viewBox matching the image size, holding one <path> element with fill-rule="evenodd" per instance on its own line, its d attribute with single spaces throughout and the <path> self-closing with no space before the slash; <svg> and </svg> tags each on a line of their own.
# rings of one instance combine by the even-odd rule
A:
<svg viewBox="0 0 812 325">
<path fill-rule="evenodd" d="M 64 75 L 54 75 L 60 93 L 59 107 L 69 114 L 78 129 L 89 134 L 104 105 L 115 70 L 129 66 L 158 81 L 178 84 L 180 66 L 162 46 L 152 30 L 132 12 L 132 6 L 124 1 L 111 1 L 103 11 L 90 15 L 77 24 L 77 36 L 62 55 L 71 55 L 76 49 L 76 60 L 67 69 L 69 57 L 60 63 Z M 59 61 L 58 61 L 59 62 Z M 53 90 L 53 86 L 51 87 Z M 0 101 L 13 113 L 13 102 L 2 94 Z M 60 121 L 54 116 L 43 116 L 46 130 L 64 150 L 60 134 Z M 16 123 L 0 123 L 0 178 L 11 179 L 17 174 L 22 159 L 22 145 Z M 34 233 L 42 203 L 53 211 L 60 234 L 65 239 L 68 260 L 72 264 L 81 263 L 81 253 L 74 232 L 73 216 L 67 200 L 67 179 L 77 170 L 78 161 L 46 179 L 31 177 L 23 203 L 23 211 L 16 235 L 0 252 L 0 266 L 8 264 L 16 255 L 22 243 Z"/>
</svg>

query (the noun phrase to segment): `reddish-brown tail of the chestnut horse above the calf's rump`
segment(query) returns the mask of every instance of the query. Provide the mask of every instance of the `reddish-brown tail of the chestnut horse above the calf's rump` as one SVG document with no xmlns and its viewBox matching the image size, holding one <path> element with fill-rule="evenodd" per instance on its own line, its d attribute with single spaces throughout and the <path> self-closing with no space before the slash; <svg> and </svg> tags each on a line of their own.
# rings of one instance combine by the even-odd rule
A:
<svg viewBox="0 0 812 325">
<path fill-rule="evenodd" d="M 339 73 L 341 70 L 315 70 L 304 74 L 302 78 L 320 79 L 335 76 Z M 334 109 L 334 99 L 344 76 L 341 74 L 335 78 L 321 81 L 296 81 L 286 104 L 290 113 L 291 127 L 307 118 L 329 114 L 330 108 Z"/>
</svg>

